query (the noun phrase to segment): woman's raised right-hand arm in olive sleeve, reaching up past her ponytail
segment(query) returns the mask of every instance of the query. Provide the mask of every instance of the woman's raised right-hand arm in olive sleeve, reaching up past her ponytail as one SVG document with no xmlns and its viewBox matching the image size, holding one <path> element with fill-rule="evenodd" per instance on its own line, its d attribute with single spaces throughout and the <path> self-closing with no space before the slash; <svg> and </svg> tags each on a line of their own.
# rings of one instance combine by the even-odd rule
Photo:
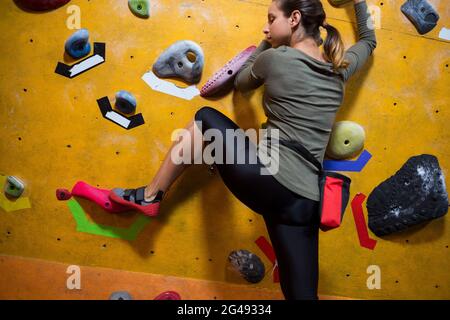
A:
<svg viewBox="0 0 450 320">
<path fill-rule="evenodd" d="M 366 0 L 354 0 L 356 22 L 358 27 L 358 42 L 351 46 L 344 55 L 349 65 L 340 70 L 344 81 L 347 81 L 356 71 L 362 68 L 366 60 L 377 46 L 375 31 L 369 28 L 370 14 Z"/>
</svg>

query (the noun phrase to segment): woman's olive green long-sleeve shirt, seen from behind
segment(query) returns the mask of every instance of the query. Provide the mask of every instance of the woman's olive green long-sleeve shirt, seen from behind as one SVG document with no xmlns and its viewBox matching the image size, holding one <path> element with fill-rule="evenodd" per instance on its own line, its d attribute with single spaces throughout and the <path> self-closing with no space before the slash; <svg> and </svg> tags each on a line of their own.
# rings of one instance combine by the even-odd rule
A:
<svg viewBox="0 0 450 320">
<path fill-rule="evenodd" d="M 347 68 L 332 72 L 331 62 L 322 62 L 290 46 L 272 48 L 263 40 L 235 78 L 235 88 L 247 92 L 265 85 L 263 108 L 267 130 L 279 129 L 279 138 L 298 141 L 321 163 L 336 112 L 344 98 L 345 82 L 364 65 L 376 47 L 375 32 L 368 27 L 366 1 L 354 5 L 358 41 L 345 51 Z M 270 150 L 265 139 L 260 146 Z M 295 151 L 279 145 L 279 162 L 259 155 L 263 163 L 277 167 L 273 176 L 291 191 L 320 200 L 318 170 Z M 269 170 L 270 171 L 270 170 Z"/>
</svg>

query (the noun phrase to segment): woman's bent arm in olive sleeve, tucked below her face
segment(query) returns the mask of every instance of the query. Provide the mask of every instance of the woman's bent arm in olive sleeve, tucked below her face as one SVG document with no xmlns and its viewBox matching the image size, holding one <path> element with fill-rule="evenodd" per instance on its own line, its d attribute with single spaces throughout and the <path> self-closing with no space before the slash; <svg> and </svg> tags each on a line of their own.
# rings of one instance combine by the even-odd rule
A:
<svg viewBox="0 0 450 320">
<path fill-rule="evenodd" d="M 263 53 L 265 50 L 272 48 L 272 45 L 266 41 L 262 40 L 259 46 L 255 49 L 252 55 L 247 59 L 244 65 L 239 69 L 237 75 L 234 79 L 234 87 L 236 90 L 241 92 L 248 92 L 250 90 L 254 90 L 261 86 L 264 83 L 263 76 L 261 72 L 255 72 L 255 69 L 261 69 L 261 67 L 254 68 L 255 64 L 262 65 L 266 64 L 264 62 Z M 265 52 L 264 52 L 265 53 Z M 262 66 L 262 67 L 268 67 Z"/>
</svg>

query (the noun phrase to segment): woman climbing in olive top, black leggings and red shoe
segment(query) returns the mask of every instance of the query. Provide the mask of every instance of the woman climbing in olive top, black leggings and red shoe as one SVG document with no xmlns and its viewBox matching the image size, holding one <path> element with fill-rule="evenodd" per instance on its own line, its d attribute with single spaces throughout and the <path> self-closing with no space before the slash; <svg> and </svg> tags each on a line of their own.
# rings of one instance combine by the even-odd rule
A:
<svg viewBox="0 0 450 320">
<path fill-rule="evenodd" d="M 241 92 L 264 84 L 265 127 L 278 130 L 281 139 L 298 141 L 320 163 L 343 101 L 345 83 L 376 47 L 366 1 L 353 1 L 359 39 L 345 50 L 339 31 L 327 23 L 319 0 L 273 0 L 263 29 L 265 38 L 234 80 L 235 89 Z M 327 32 L 325 41 L 320 35 L 321 27 Z M 220 151 L 224 155 L 232 154 L 236 159 L 239 154 L 250 157 L 257 152 L 257 146 L 248 139 L 244 145 L 227 139 L 225 131 L 238 130 L 239 126 L 220 111 L 205 106 L 186 126 L 190 136 L 196 138 L 175 141 L 149 185 L 113 189 L 110 199 L 156 215 L 164 194 L 192 164 L 175 163 L 172 151 L 181 145 L 183 150 L 193 151 L 192 159 L 200 156 L 207 145 L 203 135 L 208 129 L 222 132 Z M 194 148 L 195 144 L 201 148 Z M 265 147 L 270 149 L 267 144 Z M 214 166 L 231 193 L 264 218 L 285 298 L 318 299 L 317 169 L 283 145 L 279 146 L 275 174 L 261 174 L 263 162 L 258 157 L 255 163 L 217 161 Z"/>
</svg>

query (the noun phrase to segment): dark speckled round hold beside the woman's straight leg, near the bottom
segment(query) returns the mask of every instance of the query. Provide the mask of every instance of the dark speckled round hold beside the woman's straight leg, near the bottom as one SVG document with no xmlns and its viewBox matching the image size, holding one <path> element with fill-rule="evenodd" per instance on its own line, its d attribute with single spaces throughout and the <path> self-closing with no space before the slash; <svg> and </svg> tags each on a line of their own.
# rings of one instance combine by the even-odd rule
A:
<svg viewBox="0 0 450 320">
<path fill-rule="evenodd" d="M 261 259 L 247 250 L 232 251 L 228 256 L 231 266 L 251 283 L 260 282 L 265 275 L 265 267 Z"/>
</svg>

